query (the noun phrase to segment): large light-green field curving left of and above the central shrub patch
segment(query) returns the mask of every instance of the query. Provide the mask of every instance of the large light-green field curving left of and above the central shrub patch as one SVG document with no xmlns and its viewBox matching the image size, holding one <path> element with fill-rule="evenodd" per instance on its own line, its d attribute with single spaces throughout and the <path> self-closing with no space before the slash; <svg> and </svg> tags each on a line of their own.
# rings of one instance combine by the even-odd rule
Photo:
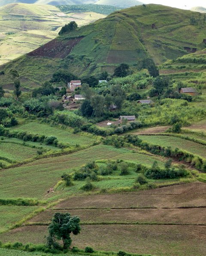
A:
<svg viewBox="0 0 206 256">
<path fill-rule="evenodd" d="M 101 160 L 101 159 L 125 159 L 130 162 L 147 163 L 152 165 L 155 159 L 159 159 L 161 165 L 161 158 L 149 155 L 138 154 L 129 149 L 116 149 L 112 146 L 97 145 L 91 148 L 81 150 L 69 155 L 63 155 L 52 158 L 42 158 L 20 167 L 6 169 L 0 172 L 0 179 L 4 180 L 0 189 L 0 198 L 3 197 L 37 197 L 48 199 L 47 189 L 54 187 L 56 183 L 61 180 L 61 175 L 72 173 L 74 168 L 79 168 L 87 162 Z M 133 160 L 131 160 L 133 159 Z M 121 186 L 122 185 L 122 181 Z M 127 182 L 127 181 L 126 181 Z M 112 187 L 115 182 L 112 181 Z M 131 183 L 131 180 L 130 180 Z M 109 181 L 108 183 L 109 184 Z M 79 183 L 78 186 L 82 184 Z M 104 187 L 105 185 L 102 185 Z M 108 185 L 106 185 L 108 186 Z M 128 185 L 127 185 L 128 186 Z M 64 195 L 63 195 L 64 193 Z M 55 191 L 56 198 L 74 193 L 82 193 L 79 187 L 74 186 L 74 189 L 65 189 L 64 191 Z"/>
</svg>

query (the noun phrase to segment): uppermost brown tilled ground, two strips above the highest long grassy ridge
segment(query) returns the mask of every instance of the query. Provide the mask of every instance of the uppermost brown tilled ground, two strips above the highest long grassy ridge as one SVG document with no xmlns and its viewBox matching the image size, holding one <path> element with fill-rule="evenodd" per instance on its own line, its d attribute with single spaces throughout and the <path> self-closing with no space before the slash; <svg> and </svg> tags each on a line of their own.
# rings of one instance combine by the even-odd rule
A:
<svg viewBox="0 0 206 256">
<path fill-rule="evenodd" d="M 74 196 L 56 209 L 206 207 L 206 183 L 188 183 L 128 194 Z"/>
</svg>

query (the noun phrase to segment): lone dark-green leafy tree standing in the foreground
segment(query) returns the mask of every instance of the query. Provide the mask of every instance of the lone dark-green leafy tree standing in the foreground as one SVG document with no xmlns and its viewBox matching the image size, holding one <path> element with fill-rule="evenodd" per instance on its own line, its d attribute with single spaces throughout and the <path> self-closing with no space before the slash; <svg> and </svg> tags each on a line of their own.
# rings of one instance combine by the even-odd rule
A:
<svg viewBox="0 0 206 256">
<path fill-rule="evenodd" d="M 80 219 L 77 216 L 71 216 L 70 213 L 55 213 L 51 224 L 48 226 L 47 245 L 49 248 L 59 248 L 57 241 L 63 241 L 63 249 L 68 249 L 72 244 L 70 234 L 78 235 L 80 233 Z"/>
</svg>

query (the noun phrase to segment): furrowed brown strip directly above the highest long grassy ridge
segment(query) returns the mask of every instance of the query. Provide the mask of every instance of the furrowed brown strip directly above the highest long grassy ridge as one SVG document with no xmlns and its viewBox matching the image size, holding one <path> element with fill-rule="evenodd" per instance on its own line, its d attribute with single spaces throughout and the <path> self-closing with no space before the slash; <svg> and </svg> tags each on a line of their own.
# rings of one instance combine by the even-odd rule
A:
<svg viewBox="0 0 206 256">
<path fill-rule="evenodd" d="M 55 209 L 121 209 L 121 208 L 178 208 L 205 207 L 206 194 L 199 195 L 147 195 L 111 194 L 70 197 Z"/>
</svg>

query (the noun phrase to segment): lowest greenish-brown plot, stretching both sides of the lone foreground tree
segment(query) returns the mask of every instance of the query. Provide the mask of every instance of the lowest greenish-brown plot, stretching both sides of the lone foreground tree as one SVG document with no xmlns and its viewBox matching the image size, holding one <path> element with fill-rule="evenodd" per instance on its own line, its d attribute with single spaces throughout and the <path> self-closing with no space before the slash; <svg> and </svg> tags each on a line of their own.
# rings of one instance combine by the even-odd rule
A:
<svg viewBox="0 0 206 256">
<path fill-rule="evenodd" d="M 47 226 L 24 226 L 1 234 L 0 241 L 44 243 L 45 235 Z M 206 251 L 205 226 L 82 225 L 81 233 L 72 235 L 72 240 L 72 246 L 79 248 L 161 256 L 202 256 Z"/>
</svg>

